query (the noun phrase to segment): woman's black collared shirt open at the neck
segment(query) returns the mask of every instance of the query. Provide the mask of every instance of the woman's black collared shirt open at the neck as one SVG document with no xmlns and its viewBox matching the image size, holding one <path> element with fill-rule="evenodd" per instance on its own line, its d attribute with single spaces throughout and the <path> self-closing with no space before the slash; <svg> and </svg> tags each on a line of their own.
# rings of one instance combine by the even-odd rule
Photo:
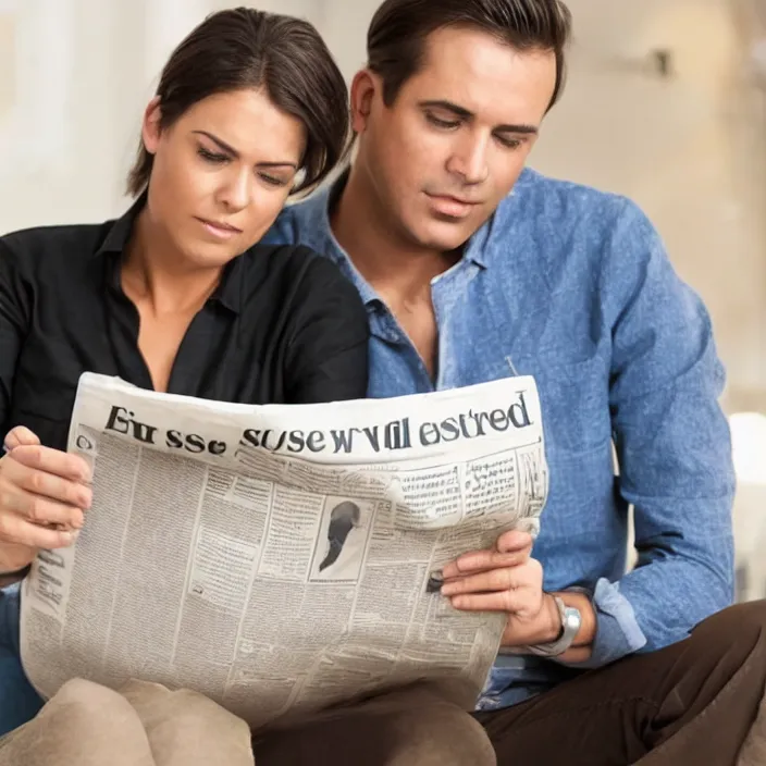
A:
<svg viewBox="0 0 766 766">
<path fill-rule="evenodd" d="M 120 277 L 139 209 L 0 238 L 0 438 L 21 424 L 65 449 L 83 372 L 152 387 Z M 226 265 L 192 321 L 168 391 L 244 404 L 361 398 L 368 334 L 356 288 L 331 261 L 256 245 Z"/>
</svg>

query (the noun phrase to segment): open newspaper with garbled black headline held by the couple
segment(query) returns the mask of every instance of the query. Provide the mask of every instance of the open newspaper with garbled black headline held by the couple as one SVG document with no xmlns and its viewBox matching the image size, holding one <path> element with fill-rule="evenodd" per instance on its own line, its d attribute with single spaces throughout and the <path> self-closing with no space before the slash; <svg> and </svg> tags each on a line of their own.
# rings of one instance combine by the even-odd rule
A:
<svg viewBox="0 0 766 766">
<path fill-rule="evenodd" d="M 74 677 L 139 678 L 254 729 L 416 680 L 473 707 L 505 616 L 455 610 L 440 570 L 504 530 L 536 533 L 532 378 L 245 406 L 86 373 L 69 444 L 94 467 L 94 504 L 22 600 L 44 697 Z"/>
</svg>

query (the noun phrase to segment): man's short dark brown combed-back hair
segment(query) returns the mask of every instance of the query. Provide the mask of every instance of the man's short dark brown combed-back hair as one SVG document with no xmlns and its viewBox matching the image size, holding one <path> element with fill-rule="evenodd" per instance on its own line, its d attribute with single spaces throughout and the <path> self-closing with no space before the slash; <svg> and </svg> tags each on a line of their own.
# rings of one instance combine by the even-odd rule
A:
<svg viewBox="0 0 766 766">
<path fill-rule="evenodd" d="M 571 34 L 571 14 L 560 0 L 385 0 L 370 23 L 367 54 L 387 106 L 423 65 L 429 35 L 445 27 L 486 32 L 518 51 L 553 52 L 556 87 L 548 109 L 558 100 Z"/>
</svg>

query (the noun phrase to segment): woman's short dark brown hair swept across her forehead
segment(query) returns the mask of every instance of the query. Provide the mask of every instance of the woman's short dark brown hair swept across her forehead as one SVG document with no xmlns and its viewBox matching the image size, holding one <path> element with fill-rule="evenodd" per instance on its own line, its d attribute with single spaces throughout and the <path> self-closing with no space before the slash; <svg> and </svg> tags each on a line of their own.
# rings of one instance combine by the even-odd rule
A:
<svg viewBox="0 0 766 766">
<path fill-rule="evenodd" d="M 311 24 L 250 8 L 208 16 L 173 51 L 160 77 L 160 127 L 170 127 L 198 101 L 245 88 L 263 89 L 272 103 L 306 126 L 304 178 L 293 193 L 321 183 L 348 149 L 346 84 Z M 153 157 L 141 141 L 127 180 L 138 196 Z"/>
</svg>

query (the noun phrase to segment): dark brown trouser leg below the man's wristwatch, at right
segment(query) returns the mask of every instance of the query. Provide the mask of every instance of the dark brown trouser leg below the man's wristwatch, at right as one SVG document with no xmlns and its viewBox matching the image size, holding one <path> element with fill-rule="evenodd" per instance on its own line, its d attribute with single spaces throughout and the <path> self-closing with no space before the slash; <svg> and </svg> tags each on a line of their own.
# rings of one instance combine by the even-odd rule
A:
<svg viewBox="0 0 766 766">
<path fill-rule="evenodd" d="M 765 680 L 762 601 L 711 617 L 678 644 L 475 717 L 502 766 L 736 766 L 743 764 L 738 757 Z M 748 743 L 751 751 L 761 737 L 766 711 Z"/>
</svg>

